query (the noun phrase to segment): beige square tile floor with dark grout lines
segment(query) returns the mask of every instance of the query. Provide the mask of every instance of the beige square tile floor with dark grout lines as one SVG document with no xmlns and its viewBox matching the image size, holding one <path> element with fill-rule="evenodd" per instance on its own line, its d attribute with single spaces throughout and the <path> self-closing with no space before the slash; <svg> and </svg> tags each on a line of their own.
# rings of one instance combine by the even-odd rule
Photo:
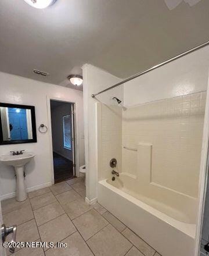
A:
<svg viewBox="0 0 209 256">
<path fill-rule="evenodd" d="M 67 243 L 67 248 L 16 248 L 14 256 L 160 256 L 102 205 L 86 204 L 81 177 L 33 191 L 24 202 L 1 203 L 5 224 L 17 225 L 17 241 Z"/>
</svg>

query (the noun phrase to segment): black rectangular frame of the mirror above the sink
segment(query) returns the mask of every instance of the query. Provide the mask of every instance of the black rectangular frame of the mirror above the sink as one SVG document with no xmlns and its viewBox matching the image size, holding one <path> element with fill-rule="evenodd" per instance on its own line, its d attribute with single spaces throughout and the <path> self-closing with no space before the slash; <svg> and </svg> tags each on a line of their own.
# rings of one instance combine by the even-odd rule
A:
<svg viewBox="0 0 209 256">
<path fill-rule="evenodd" d="M 20 143 L 36 143 L 37 142 L 37 132 L 36 132 L 36 125 L 35 125 L 35 106 L 29 105 L 17 105 L 17 104 L 9 104 L 9 103 L 2 103 L 0 102 L 0 106 L 5 108 L 23 108 L 23 109 L 30 109 L 31 110 L 31 122 L 32 122 L 32 133 L 33 139 L 30 140 L 3 140 L 3 130 L 2 130 L 2 120 L 0 114 L 0 145 L 9 145 L 9 144 L 20 144 Z"/>
</svg>

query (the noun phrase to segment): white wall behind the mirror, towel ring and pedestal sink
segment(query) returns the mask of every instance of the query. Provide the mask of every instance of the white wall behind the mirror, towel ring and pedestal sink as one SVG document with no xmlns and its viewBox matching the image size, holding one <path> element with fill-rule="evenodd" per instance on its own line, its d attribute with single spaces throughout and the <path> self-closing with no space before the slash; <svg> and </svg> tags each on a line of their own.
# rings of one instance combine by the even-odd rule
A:
<svg viewBox="0 0 209 256">
<path fill-rule="evenodd" d="M 70 88 L 42 83 L 12 74 L 0 73 L 0 102 L 12 104 L 26 104 L 35 106 L 37 122 L 37 143 L 0 145 L 0 154 L 9 154 L 12 150 L 33 151 L 35 158 L 26 166 L 26 185 L 28 189 L 51 184 L 51 134 L 41 134 L 38 126 L 41 123 L 49 126 L 47 97 L 63 101 L 75 102 L 77 105 L 78 140 L 76 142 L 79 150 L 79 162 L 77 168 L 84 164 L 84 134 L 83 122 L 83 98 L 82 92 Z M 51 129 L 49 129 L 51 130 Z M 77 151 L 78 152 L 78 151 Z M 16 190 L 15 173 L 12 167 L 0 164 L 0 195 L 5 198 Z"/>
</svg>

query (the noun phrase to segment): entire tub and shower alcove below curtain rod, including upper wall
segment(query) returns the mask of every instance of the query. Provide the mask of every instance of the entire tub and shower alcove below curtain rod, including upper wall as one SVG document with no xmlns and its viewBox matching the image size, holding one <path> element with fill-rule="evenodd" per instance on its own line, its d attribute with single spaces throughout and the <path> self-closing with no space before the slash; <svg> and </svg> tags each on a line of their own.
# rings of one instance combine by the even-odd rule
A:
<svg viewBox="0 0 209 256">
<path fill-rule="evenodd" d="M 111 86 L 95 103 L 98 202 L 162 256 L 196 255 L 207 83 L 193 62 L 206 53 Z"/>
</svg>

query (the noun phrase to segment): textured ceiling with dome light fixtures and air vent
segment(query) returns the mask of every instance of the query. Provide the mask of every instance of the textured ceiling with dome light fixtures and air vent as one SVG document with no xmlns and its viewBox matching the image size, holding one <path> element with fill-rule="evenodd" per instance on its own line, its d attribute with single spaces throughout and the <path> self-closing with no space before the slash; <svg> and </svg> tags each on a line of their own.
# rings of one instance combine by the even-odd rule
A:
<svg viewBox="0 0 209 256">
<path fill-rule="evenodd" d="M 209 1 L 187 1 L 57 0 L 40 10 L 1 0 L 0 71 L 71 88 L 66 77 L 84 63 L 131 76 L 209 39 Z"/>
</svg>

